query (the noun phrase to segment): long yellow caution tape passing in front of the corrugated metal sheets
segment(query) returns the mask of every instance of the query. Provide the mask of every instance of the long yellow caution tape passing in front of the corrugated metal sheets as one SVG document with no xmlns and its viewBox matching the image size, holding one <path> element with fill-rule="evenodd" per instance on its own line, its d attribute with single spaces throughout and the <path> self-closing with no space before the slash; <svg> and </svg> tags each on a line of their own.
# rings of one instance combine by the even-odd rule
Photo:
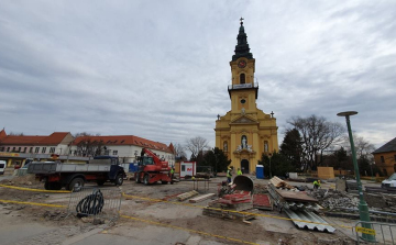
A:
<svg viewBox="0 0 396 245">
<path fill-rule="evenodd" d="M 124 192 L 122 192 L 122 196 L 125 197 L 125 198 L 135 198 L 135 199 L 154 201 L 154 202 L 165 202 L 165 203 L 177 204 L 177 205 L 186 205 L 186 207 L 190 207 L 190 208 L 199 208 L 199 209 L 205 208 L 205 209 L 209 209 L 209 210 L 230 212 L 230 213 L 240 213 L 240 214 L 245 214 L 245 215 L 272 218 L 272 219 L 285 220 L 285 221 L 305 222 L 305 223 L 310 223 L 310 224 L 334 225 L 334 226 L 344 227 L 344 229 L 353 229 L 352 226 L 340 225 L 340 224 L 324 224 L 324 223 L 320 223 L 320 222 L 304 221 L 304 220 L 297 220 L 297 219 L 290 219 L 290 218 L 284 218 L 284 216 L 274 216 L 274 215 L 262 214 L 262 213 L 251 213 L 251 212 L 243 212 L 243 211 L 237 211 L 237 210 L 210 208 L 210 207 L 205 207 L 205 205 L 194 205 L 194 204 L 183 203 L 183 202 L 165 201 L 165 200 L 162 200 L 162 199 L 143 198 L 143 197 L 139 197 L 139 196 L 125 194 Z"/>
</svg>

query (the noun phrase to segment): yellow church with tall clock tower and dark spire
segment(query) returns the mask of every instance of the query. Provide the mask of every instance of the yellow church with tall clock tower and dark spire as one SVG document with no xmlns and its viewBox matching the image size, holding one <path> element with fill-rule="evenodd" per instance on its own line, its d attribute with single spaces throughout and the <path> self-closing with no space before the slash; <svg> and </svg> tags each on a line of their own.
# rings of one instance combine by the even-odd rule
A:
<svg viewBox="0 0 396 245">
<path fill-rule="evenodd" d="M 278 152 L 277 126 L 274 113 L 265 114 L 257 109 L 258 83 L 254 79 L 255 59 L 250 53 L 248 36 L 241 18 L 235 54 L 230 62 L 231 85 L 228 92 L 231 111 L 218 115 L 216 121 L 216 147 L 231 159 L 234 169 L 244 174 L 255 171 L 262 154 Z"/>
</svg>

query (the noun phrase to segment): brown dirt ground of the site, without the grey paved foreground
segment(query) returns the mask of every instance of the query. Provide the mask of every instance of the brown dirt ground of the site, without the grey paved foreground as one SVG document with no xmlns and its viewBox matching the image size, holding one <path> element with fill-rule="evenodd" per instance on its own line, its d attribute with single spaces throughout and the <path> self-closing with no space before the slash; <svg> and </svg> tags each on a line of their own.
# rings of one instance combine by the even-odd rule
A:
<svg viewBox="0 0 396 245">
<path fill-rule="evenodd" d="M 205 190 L 204 182 L 198 182 L 198 192 L 200 193 L 217 193 L 218 183 L 221 182 L 220 178 L 211 179 L 209 189 Z M 43 183 L 34 179 L 34 176 L 15 177 L 11 181 L 3 180 L 0 183 L 11 185 L 25 188 L 44 189 Z M 257 185 L 257 183 L 255 183 Z M 87 187 L 96 187 L 96 185 L 86 185 Z M 256 186 L 257 187 L 257 186 Z M 103 189 L 118 190 L 112 183 L 106 183 Z M 243 223 L 234 220 L 222 220 L 211 216 L 202 215 L 201 208 L 191 208 L 188 205 L 180 205 L 173 202 L 178 202 L 176 196 L 194 189 L 193 181 L 180 181 L 174 185 L 151 185 L 144 186 L 142 183 L 135 183 L 131 180 L 125 180 L 121 187 L 122 192 L 128 196 L 138 196 L 140 198 L 124 197 L 121 201 L 121 214 L 128 215 L 144 221 L 158 222 L 164 225 L 174 225 L 177 227 L 200 231 L 205 233 L 238 237 L 242 241 L 251 243 L 264 243 L 270 244 L 354 244 L 352 240 L 343 235 L 342 232 L 337 231 L 334 234 L 312 232 L 305 230 L 297 230 L 294 227 L 290 221 L 275 220 L 271 218 L 257 218 L 251 220 L 251 224 Z M 262 189 L 262 186 L 258 186 Z M 33 192 L 25 190 L 15 190 L 10 188 L 0 187 L 0 199 L 13 200 L 21 202 L 38 202 L 68 205 L 70 194 L 69 193 L 46 193 L 46 192 Z M 145 200 L 141 198 L 161 199 L 166 202 L 157 202 L 154 200 Z M 215 199 L 215 198 L 213 198 Z M 211 200 L 195 203 L 196 205 L 207 205 Z M 184 201 L 182 203 L 188 203 Z M 16 204 L 16 203 L 1 203 L 1 215 L 8 215 L 12 219 L 24 220 L 25 222 L 40 222 L 45 225 L 63 229 L 58 240 L 62 241 L 63 236 L 74 236 L 82 232 L 89 231 L 95 227 L 92 220 L 79 219 L 75 215 L 67 215 L 67 208 L 53 208 L 41 207 L 32 204 Z M 263 214 L 286 218 L 286 214 L 278 213 L 276 211 L 258 211 Z M 276 223 L 279 222 L 279 223 Z M 99 222 L 100 223 L 100 222 Z M 144 229 L 147 225 L 152 225 L 145 222 L 139 222 L 130 219 L 119 219 L 116 223 L 110 223 L 106 220 L 106 225 L 109 233 L 117 234 L 118 230 L 112 229 L 116 226 L 130 226 Z M 78 229 L 72 229 L 78 227 Z M 58 232 L 59 233 L 59 232 Z M 55 235 L 54 235 L 55 236 Z M 206 237 L 207 240 L 217 241 L 223 244 L 240 244 L 238 242 L 232 243 L 217 237 Z M 52 241 L 56 238 L 51 237 Z M 40 243 L 38 243 L 40 244 Z"/>
</svg>

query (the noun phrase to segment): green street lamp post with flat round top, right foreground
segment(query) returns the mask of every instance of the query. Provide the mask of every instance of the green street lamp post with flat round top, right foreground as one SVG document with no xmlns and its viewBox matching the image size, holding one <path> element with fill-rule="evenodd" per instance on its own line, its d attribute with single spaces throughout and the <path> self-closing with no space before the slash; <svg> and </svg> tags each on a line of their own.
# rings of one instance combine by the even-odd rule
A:
<svg viewBox="0 0 396 245">
<path fill-rule="evenodd" d="M 350 115 L 355 115 L 355 114 L 358 114 L 356 111 L 345 111 L 345 112 L 340 112 L 337 115 L 338 116 L 345 116 L 345 119 L 346 119 L 348 134 L 349 134 L 350 143 L 351 143 L 352 162 L 353 162 L 353 167 L 354 167 L 354 171 L 355 171 L 355 176 L 356 176 L 356 185 L 358 185 L 359 199 L 360 199 L 360 202 L 359 202 L 360 220 L 363 221 L 362 222 L 363 227 L 372 229 L 371 224 L 364 223 L 364 221 L 370 222 L 370 213 L 369 213 L 367 203 L 364 201 L 364 197 L 363 197 L 362 182 L 361 182 L 361 179 L 360 179 L 359 166 L 358 166 L 358 160 L 356 160 L 356 152 L 355 152 L 355 148 L 354 148 L 352 130 L 351 130 Z M 374 235 L 362 233 L 362 238 L 365 240 L 365 241 L 375 242 L 375 236 Z"/>
</svg>

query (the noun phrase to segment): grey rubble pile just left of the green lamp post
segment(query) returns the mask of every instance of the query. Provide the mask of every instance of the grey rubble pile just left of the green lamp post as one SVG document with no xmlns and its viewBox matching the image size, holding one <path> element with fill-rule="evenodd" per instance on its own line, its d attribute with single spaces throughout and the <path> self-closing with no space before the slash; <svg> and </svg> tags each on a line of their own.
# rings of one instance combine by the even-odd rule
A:
<svg viewBox="0 0 396 245">
<path fill-rule="evenodd" d="M 309 196 L 319 200 L 319 204 L 324 209 L 333 210 L 338 208 L 358 208 L 359 199 L 351 197 L 346 192 L 337 190 L 319 189 L 308 192 Z"/>
</svg>

